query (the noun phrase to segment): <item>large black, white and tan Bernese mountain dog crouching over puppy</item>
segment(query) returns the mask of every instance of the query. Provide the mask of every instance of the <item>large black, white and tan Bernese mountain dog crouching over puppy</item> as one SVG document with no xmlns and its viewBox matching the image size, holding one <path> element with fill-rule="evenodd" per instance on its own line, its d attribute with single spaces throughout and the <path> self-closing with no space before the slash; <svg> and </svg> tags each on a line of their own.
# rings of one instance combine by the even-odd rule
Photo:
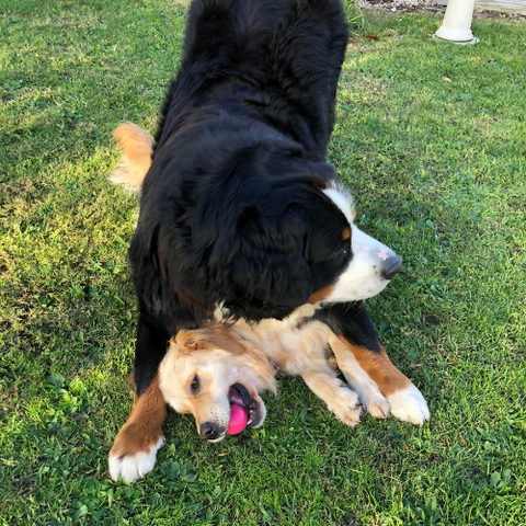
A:
<svg viewBox="0 0 526 526">
<path fill-rule="evenodd" d="M 117 129 L 114 180 L 141 196 L 128 251 L 135 399 L 110 453 L 113 479 L 152 469 L 168 342 L 210 322 L 271 320 L 279 331 L 308 311 L 346 345 L 387 411 L 415 424 L 428 418 L 363 304 L 401 259 L 357 228 L 324 158 L 347 37 L 341 0 L 194 0 L 155 139 Z"/>
</svg>

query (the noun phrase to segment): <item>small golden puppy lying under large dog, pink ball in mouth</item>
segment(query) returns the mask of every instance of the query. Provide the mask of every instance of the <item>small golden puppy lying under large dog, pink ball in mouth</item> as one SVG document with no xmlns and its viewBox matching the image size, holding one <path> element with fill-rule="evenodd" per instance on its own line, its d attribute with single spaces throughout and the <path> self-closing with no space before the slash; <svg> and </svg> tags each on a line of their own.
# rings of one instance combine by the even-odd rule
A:
<svg viewBox="0 0 526 526">
<path fill-rule="evenodd" d="M 350 352 L 348 343 L 308 315 L 298 312 L 286 321 L 268 320 L 256 327 L 238 321 L 228 328 L 214 324 L 181 331 L 171 340 L 159 369 L 164 400 L 178 412 L 192 413 L 198 433 L 210 442 L 225 437 L 232 404 L 244 408 L 251 427 L 263 424 L 266 409 L 260 395 L 276 391 L 276 370 L 300 375 L 346 425 L 359 422 L 361 404 L 375 418 L 387 416 L 395 397 L 381 393 Z M 403 384 L 404 389 L 420 395 L 384 356 L 390 365 L 385 373 L 397 377 L 392 384 Z M 338 369 L 348 384 L 338 378 Z M 428 419 L 425 400 L 421 395 L 420 399 L 418 412 L 398 418 L 415 424 Z"/>
</svg>

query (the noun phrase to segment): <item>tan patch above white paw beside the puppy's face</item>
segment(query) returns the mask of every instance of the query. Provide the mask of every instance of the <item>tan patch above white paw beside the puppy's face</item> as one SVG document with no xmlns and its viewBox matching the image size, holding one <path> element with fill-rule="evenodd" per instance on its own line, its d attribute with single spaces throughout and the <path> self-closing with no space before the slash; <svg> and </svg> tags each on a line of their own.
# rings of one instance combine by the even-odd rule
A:
<svg viewBox="0 0 526 526">
<path fill-rule="evenodd" d="M 163 436 L 162 423 L 167 414 L 167 404 L 159 389 L 159 377 L 156 376 L 140 397 L 135 395 L 132 413 L 121 427 L 110 457 L 148 454 Z"/>
</svg>

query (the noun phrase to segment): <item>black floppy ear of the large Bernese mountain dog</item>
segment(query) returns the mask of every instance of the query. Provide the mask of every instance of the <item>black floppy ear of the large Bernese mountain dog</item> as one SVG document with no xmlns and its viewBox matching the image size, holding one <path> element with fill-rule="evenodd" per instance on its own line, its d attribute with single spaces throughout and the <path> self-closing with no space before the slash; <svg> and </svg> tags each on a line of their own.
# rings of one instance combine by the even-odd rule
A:
<svg viewBox="0 0 526 526">
<path fill-rule="evenodd" d="M 224 275 L 226 306 L 249 319 L 288 316 L 312 294 L 309 236 L 295 214 L 263 218 L 243 208 L 233 235 L 233 256 Z"/>
</svg>

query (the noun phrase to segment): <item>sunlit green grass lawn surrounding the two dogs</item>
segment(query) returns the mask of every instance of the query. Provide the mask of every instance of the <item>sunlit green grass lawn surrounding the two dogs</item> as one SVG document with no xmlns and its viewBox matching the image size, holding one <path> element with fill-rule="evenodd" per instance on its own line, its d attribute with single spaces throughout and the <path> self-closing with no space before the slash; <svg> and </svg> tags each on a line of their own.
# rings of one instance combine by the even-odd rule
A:
<svg viewBox="0 0 526 526">
<path fill-rule="evenodd" d="M 203 444 L 171 414 L 133 485 L 107 478 L 132 405 L 136 201 L 107 181 L 123 121 L 155 129 L 175 1 L 0 1 L 0 524 L 526 522 L 526 25 L 365 13 L 329 158 L 403 271 L 369 309 L 430 402 L 422 428 L 340 424 L 299 378 L 260 431 Z M 359 32 L 358 32 L 359 33 Z M 450 82 L 444 80 L 450 79 Z"/>
</svg>

